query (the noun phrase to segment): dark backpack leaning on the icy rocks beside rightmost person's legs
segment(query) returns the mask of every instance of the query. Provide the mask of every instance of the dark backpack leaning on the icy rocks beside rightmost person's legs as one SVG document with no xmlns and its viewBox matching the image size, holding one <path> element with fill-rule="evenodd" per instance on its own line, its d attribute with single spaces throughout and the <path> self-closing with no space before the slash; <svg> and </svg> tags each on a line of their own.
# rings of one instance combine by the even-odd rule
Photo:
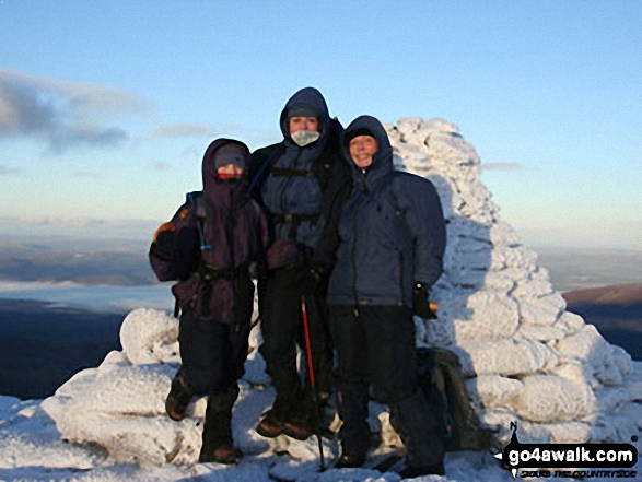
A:
<svg viewBox="0 0 642 482">
<path fill-rule="evenodd" d="M 489 450 L 495 432 L 482 426 L 468 398 L 457 355 L 441 348 L 418 348 L 419 385 L 434 413 L 446 451 Z"/>
</svg>

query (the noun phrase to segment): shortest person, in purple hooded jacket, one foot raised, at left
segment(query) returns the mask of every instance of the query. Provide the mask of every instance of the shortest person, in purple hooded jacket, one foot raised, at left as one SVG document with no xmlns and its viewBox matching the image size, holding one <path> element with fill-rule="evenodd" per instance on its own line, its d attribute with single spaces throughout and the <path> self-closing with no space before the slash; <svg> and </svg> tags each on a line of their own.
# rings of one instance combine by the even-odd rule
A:
<svg viewBox="0 0 642 482">
<path fill-rule="evenodd" d="M 194 396 L 208 396 L 201 462 L 237 463 L 242 457 L 232 440 L 232 408 L 254 307 L 249 273 L 268 243 L 266 216 L 247 197 L 249 162 L 244 143 L 212 142 L 202 161 L 203 190 L 188 195 L 150 248 L 159 280 L 178 280 L 172 292 L 182 311 L 182 366 L 165 408 L 180 421 Z"/>
</svg>

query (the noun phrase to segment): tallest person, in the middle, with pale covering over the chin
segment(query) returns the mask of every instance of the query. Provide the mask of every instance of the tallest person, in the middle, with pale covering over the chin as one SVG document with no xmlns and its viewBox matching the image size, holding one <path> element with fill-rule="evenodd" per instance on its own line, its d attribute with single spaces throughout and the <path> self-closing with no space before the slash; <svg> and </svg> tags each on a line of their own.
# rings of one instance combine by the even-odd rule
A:
<svg viewBox="0 0 642 482">
<path fill-rule="evenodd" d="M 325 273 L 312 257 L 325 226 L 326 199 L 349 179 L 341 158 L 341 126 L 328 114 L 316 89 L 296 92 L 280 117 L 283 141 L 253 153 L 250 191 L 268 213 L 271 244 L 269 274 L 259 283 L 260 346 L 276 399 L 257 425 L 266 437 L 284 433 L 307 438 L 316 415 L 306 386 L 308 374 L 296 368 L 297 346 L 305 348 L 302 304 L 308 317 L 313 371 L 318 399 L 332 385 L 332 348 L 325 304 Z M 306 364 L 302 364 L 306 366 Z"/>
</svg>

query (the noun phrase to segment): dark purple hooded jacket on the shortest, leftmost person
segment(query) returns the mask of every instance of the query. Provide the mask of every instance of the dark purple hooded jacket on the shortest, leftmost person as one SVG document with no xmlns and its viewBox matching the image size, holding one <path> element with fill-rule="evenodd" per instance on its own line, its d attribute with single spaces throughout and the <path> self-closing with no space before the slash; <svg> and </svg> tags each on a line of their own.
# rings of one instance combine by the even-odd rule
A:
<svg viewBox="0 0 642 482">
<path fill-rule="evenodd" d="M 244 175 L 219 179 L 218 168 L 230 162 L 242 165 Z M 247 197 L 248 166 L 245 144 L 230 139 L 212 142 L 202 161 L 203 190 L 187 195 L 170 222 L 175 243 L 161 252 L 154 242 L 150 249 L 159 280 L 179 280 L 172 287 L 179 305 L 195 308 L 203 319 L 233 322 L 233 308 L 241 308 L 235 304 L 245 311 L 247 299 L 252 313 L 248 268 L 260 261 L 268 228 L 260 208 Z M 241 298 L 244 302 L 236 303 Z"/>
</svg>

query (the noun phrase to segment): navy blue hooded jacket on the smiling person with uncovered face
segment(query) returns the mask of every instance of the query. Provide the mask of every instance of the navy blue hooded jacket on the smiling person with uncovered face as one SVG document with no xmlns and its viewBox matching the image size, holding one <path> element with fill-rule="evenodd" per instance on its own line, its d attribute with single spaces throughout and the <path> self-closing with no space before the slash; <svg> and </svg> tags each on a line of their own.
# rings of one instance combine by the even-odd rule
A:
<svg viewBox="0 0 642 482">
<path fill-rule="evenodd" d="M 431 286 L 442 273 L 445 222 L 439 195 L 423 177 L 394 171 L 388 136 L 374 117 L 348 129 L 377 141 L 372 164 L 361 169 L 350 157 L 352 191 L 338 222 L 339 246 L 328 286 L 335 305 L 412 306 L 412 283 Z"/>
</svg>

